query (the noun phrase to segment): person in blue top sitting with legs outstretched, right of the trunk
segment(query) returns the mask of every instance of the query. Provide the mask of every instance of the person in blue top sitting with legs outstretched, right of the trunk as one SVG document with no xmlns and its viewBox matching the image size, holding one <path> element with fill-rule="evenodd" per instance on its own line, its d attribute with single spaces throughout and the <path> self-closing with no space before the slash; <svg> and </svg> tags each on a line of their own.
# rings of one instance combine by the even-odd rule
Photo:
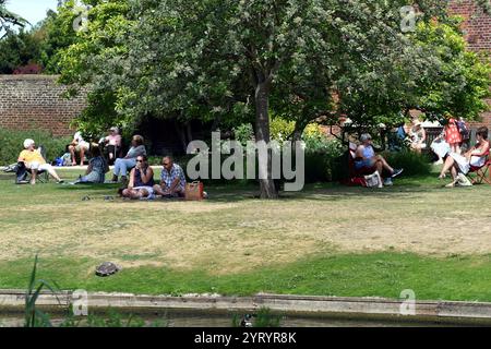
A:
<svg viewBox="0 0 491 349">
<path fill-rule="evenodd" d="M 384 185 L 392 185 L 392 179 L 399 176 L 403 169 L 392 168 L 381 155 L 375 154 L 370 134 L 363 133 L 360 142 L 356 152 L 355 169 L 367 173 L 378 171 L 381 178 L 385 178 Z M 390 177 L 384 177 L 384 170 Z"/>
</svg>

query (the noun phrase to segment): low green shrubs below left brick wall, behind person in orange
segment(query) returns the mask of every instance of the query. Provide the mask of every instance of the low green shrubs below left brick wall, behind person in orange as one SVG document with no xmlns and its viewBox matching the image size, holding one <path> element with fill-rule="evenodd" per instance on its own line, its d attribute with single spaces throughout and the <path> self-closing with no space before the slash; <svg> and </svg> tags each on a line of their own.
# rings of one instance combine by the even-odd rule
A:
<svg viewBox="0 0 491 349">
<path fill-rule="evenodd" d="M 49 132 L 39 130 L 12 131 L 0 129 L 0 165 L 13 164 L 24 148 L 25 139 L 33 139 L 36 145 L 44 145 L 47 151 L 47 161 L 52 161 L 65 152 L 71 137 L 53 137 Z"/>
</svg>

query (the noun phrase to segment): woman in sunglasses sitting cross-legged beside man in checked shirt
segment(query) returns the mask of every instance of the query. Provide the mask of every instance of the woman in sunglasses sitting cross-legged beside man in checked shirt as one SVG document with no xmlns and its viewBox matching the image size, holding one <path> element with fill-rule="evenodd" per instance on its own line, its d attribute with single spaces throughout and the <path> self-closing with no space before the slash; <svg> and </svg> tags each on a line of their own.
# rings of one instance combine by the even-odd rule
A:
<svg viewBox="0 0 491 349">
<path fill-rule="evenodd" d="M 128 188 L 123 189 L 123 197 L 139 200 L 152 198 L 154 196 L 154 171 L 148 166 L 146 155 L 136 157 L 136 166 L 130 172 L 130 182 Z"/>
</svg>

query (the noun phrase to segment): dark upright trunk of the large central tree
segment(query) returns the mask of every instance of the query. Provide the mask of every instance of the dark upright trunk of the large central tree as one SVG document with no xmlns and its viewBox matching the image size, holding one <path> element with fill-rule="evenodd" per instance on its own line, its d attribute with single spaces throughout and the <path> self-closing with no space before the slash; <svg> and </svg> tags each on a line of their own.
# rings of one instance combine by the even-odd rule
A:
<svg viewBox="0 0 491 349">
<path fill-rule="evenodd" d="M 260 82 L 255 88 L 255 141 L 270 144 L 270 91 L 265 82 Z M 267 151 L 267 178 L 260 179 L 261 198 L 277 198 L 272 171 L 272 153 Z"/>
</svg>

